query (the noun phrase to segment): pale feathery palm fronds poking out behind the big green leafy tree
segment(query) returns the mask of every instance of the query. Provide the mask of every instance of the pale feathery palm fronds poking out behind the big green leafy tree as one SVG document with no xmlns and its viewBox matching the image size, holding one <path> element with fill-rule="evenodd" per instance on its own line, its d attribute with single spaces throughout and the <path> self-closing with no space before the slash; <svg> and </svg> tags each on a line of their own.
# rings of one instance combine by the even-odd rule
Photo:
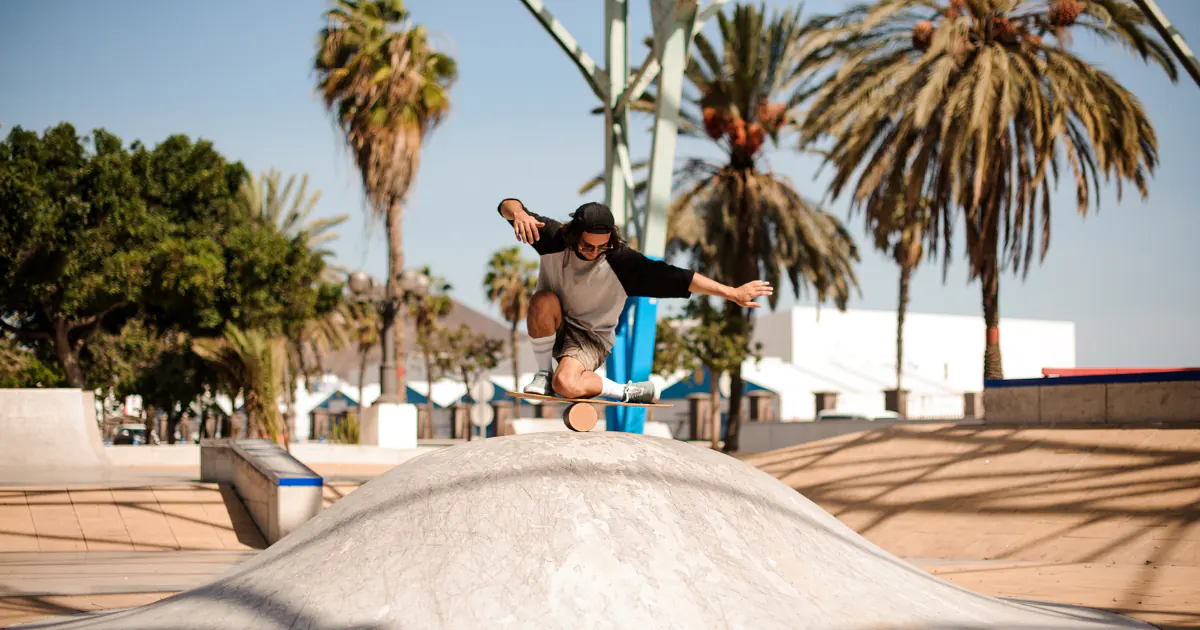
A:
<svg viewBox="0 0 1200 630">
<path fill-rule="evenodd" d="M 308 216 L 320 200 L 320 188 L 313 191 L 311 196 L 307 193 L 307 174 L 300 180 L 300 187 L 295 191 L 293 191 L 295 175 L 288 175 L 287 184 L 281 188 L 281 173 L 274 168 L 258 175 L 247 175 L 238 191 L 242 205 L 250 216 L 259 217 L 268 224 L 275 226 L 276 230 L 288 239 L 298 239 L 302 235 L 308 250 L 326 259 L 323 280 L 341 281 L 348 270 L 332 263 L 330 258 L 334 252 L 325 250 L 324 246 L 338 238 L 336 232 L 330 230 L 344 223 L 349 216 L 337 215 L 310 220 Z"/>
</svg>

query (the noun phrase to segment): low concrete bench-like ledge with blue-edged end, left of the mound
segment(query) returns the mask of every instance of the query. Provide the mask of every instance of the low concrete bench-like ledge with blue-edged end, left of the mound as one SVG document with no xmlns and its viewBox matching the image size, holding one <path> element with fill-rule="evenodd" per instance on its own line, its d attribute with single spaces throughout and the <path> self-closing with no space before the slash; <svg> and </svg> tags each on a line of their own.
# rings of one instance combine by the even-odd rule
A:
<svg viewBox="0 0 1200 630">
<path fill-rule="evenodd" d="M 323 509 L 324 479 L 266 439 L 202 440 L 200 479 L 232 486 L 268 545 Z"/>
</svg>

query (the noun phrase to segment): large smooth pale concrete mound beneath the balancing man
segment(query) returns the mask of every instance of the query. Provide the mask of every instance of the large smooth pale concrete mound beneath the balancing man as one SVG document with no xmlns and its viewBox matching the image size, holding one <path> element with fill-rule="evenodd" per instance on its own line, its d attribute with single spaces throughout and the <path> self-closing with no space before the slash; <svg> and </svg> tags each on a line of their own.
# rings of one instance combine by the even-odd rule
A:
<svg viewBox="0 0 1200 630">
<path fill-rule="evenodd" d="M 606 432 L 421 455 L 209 586 L 22 628 L 1147 625 L 972 593 L 871 545 L 743 462 Z"/>
</svg>

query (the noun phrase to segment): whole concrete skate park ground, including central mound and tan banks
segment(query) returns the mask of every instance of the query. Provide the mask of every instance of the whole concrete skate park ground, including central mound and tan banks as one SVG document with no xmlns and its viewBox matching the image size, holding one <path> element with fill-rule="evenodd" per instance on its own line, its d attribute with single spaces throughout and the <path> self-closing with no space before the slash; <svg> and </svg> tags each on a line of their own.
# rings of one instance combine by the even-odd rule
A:
<svg viewBox="0 0 1200 630">
<path fill-rule="evenodd" d="M 344 458 L 359 463 L 311 466 L 269 443 L 222 456 L 228 440 L 212 440 L 205 461 L 172 469 L 114 466 L 121 449 L 148 446 L 103 446 L 79 428 L 89 421 L 64 402 L 79 392 L 30 392 L 55 395 L 55 412 L 10 412 L 0 426 L 36 419 L 74 438 L 32 451 L 43 466 L 6 470 L 0 622 L 1189 628 L 1200 428 L 1178 415 L 1196 413 L 1200 382 L 1144 389 L 1159 397 L 1153 388 L 1172 383 L 1182 406 L 1145 419 L 859 422 L 738 456 L 534 432 L 422 445 L 391 454 L 398 463 L 362 463 L 367 448 L 352 446 Z M 1078 397 L 1081 386 L 1042 389 Z M 1042 408 L 1072 402 L 1039 396 Z M 55 451 L 112 455 L 73 467 Z M 307 491 L 300 509 L 278 503 L 300 514 L 284 538 L 268 542 L 253 505 L 262 481 L 217 470 L 232 458 L 272 474 L 268 486 Z"/>
</svg>

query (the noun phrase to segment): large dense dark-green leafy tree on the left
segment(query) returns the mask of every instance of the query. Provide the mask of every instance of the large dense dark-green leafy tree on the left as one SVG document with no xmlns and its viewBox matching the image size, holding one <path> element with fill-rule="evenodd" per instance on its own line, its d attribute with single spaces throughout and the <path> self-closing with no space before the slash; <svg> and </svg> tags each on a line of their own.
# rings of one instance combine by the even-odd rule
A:
<svg viewBox="0 0 1200 630">
<path fill-rule="evenodd" d="M 220 382 L 192 340 L 233 325 L 311 342 L 342 307 L 341 286 L 322 282 L 305 232 L 247 215 L 245 176 L 182 136 L 126 150 L 103 130 L 12 130 L 0 144 L 0 328 L 53 356 L 67 386 L 139 394 L 149 419 L 160 408 L 172 424 Z"/>
</svg>

